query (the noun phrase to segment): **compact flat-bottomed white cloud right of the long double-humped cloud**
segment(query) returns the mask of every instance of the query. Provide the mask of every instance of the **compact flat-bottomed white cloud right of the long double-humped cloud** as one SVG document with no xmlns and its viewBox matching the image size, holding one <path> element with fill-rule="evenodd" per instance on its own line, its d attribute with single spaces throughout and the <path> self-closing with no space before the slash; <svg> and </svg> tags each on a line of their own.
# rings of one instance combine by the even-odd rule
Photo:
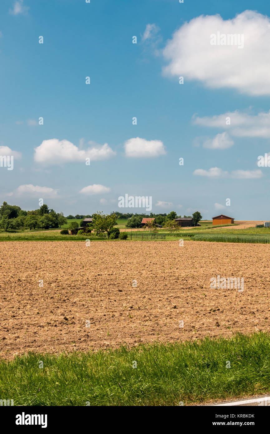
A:
<svg viewBox="0 0 270 434">
<path fill-rule="evenodd" d="M 124 143 L 126 157 L 159 157 L 165 155 L 163 142 L 146 140 L 145 138 L 130 138 Z"/>
</svg>

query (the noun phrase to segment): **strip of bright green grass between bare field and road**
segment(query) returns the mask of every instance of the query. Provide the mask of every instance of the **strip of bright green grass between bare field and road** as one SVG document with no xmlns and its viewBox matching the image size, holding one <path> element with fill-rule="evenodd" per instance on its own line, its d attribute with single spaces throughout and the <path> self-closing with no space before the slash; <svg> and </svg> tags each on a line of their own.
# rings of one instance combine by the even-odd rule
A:
<svg viewBox="0 0 270 434">
<path fill-rule="evenodd" d="M 262 332 L 0 362 L 0 398 L 14 405 L 188 405 L 269 391 L 270 335 Z"/>
</svg>

